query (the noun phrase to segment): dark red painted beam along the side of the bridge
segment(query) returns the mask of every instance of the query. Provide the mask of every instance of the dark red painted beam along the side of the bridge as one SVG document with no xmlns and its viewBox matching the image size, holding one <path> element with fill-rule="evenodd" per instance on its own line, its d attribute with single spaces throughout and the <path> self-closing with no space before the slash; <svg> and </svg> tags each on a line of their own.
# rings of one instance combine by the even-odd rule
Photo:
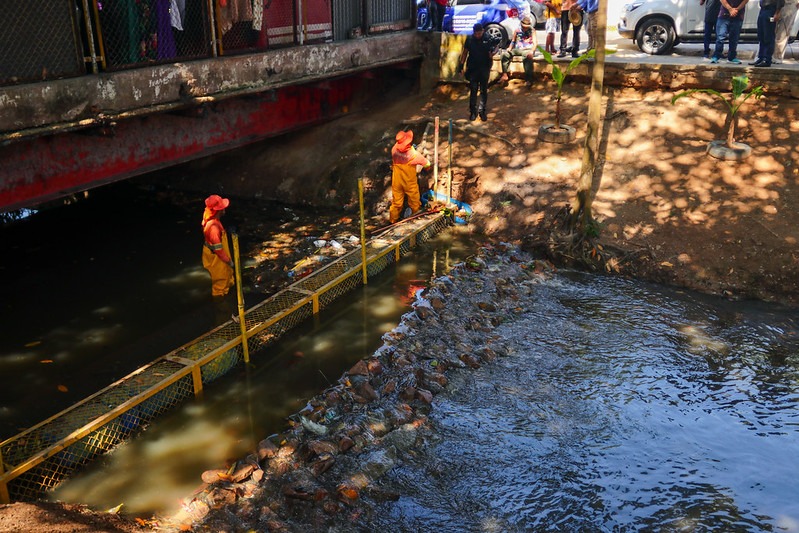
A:
<svg viewBox="0 0 799 533">
<path fill-rule="evenodd" d="M 333 118 L 346 111 L 364 82 L 361 76 L 325 80 L 0 147 L 0 211 Z"/>
</svg>

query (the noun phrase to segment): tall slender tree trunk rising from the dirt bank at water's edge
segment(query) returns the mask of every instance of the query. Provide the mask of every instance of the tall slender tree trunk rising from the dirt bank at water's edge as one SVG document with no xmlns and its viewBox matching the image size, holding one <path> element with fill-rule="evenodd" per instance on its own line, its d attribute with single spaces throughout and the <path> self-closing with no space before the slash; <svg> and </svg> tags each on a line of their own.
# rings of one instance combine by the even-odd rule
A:
<svg viewBox="0 0 799 533">
<path fill-rule="evenodd" d="M 583 163 L 580 169 L 580 179 L 577 182 L 577 193 L 572 200 L 571 220 L 572 230 L 585 233 L 593 220 L 591 204 L 594 194 L 599 189 L 601 176 L 596 173 L 597 152 L 599 151 L 599 136 L 602 127 L 602 84 L 605 77 L 605 33 L 607 32 L 608 0 L 599 0 L 599 10 L 596 14 L 596 39 L 594 48 L 594 68 L 591 73 L 591 94 L 588 99 L 588 131 L 583 146 Z"/>
</svg>

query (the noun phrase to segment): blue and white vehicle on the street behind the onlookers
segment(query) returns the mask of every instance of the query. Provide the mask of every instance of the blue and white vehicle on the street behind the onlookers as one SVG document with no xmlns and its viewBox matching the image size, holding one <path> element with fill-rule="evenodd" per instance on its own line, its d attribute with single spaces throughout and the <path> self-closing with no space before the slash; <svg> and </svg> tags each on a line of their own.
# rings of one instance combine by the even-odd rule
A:
<svg viewBox="0 0 799 533">
<path fill-rule="evenodd" d="M 476 22 L 481 22 L 490 37 L 505 47 L 519 27 L 519 13 L 527 11 L 533 26 L 544 22 L 544 5 L 536 0 L 450 0 L 444 13 L 442 29 L 449 33 L 471 34 Z M 417 6 L 417 29 L 432 27 L 424 0 Z"/>
</svg>

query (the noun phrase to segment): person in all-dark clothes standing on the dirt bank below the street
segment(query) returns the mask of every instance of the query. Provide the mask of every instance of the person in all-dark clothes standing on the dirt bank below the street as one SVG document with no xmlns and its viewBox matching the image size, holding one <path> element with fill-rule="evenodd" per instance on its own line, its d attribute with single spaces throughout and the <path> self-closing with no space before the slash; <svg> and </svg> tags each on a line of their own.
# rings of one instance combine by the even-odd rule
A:
<svg viewBox="0 0 799 533">
<path fill-rule="evenodd" d="M 472 34 L 466 38 L 458 61 L 458 71 L 466 65 L 464 77 L 469 81 L 469 120 L 477 116 L 488 120 L 486 104 L 488 103 L 488 78 L 491 76 L 493 56 L 499 43 L 485 33 L 479 22 L 472 28 Z M 477 103 L 477 92 L 480 92 L 480 103 Z"/>
</svg>

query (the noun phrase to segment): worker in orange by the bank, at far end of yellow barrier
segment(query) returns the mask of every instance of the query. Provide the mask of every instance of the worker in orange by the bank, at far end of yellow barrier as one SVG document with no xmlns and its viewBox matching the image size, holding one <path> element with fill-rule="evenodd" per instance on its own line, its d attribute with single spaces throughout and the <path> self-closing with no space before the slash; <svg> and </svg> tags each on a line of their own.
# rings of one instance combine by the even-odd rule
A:
<svg viewBox="0 0 799 533">
<path fill-rule="evenodd" d="M 419 198 L 419 183 L 416 178 L 416 166 L 424 169 L 430 168 L 428 161 L 413 146 L 413 132 L 400 131 L 397 133 L 396 143 L 391 148 L 391 209 L 389 220 L 392 224 L 398 222 L 405 196 L 408 196 L 408 209 L 411 213 L 418 212 L 422 207 Z"/>
</svg>

